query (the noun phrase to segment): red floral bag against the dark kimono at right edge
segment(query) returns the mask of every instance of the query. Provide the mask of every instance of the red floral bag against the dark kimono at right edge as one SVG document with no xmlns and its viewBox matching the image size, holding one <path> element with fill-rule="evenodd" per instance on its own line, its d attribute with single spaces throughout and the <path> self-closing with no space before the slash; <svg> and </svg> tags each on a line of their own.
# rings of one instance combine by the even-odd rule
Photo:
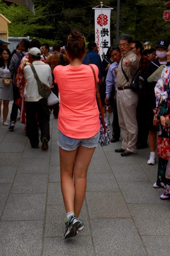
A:
<svg viewBox="0 0 170 256">
<path fill-rule="evenodd" d="M 158 136 L 157 156 L 165 160 L 170 158 L 170 134 L 163 129 L 162 134 Z"/>
</svg>

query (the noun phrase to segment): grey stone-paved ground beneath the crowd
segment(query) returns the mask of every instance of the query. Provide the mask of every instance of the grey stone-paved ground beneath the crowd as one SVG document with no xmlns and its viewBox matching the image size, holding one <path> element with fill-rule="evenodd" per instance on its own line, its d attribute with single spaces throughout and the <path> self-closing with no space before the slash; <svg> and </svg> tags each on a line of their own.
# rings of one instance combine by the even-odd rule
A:
<svg viewBox="0 0 170 256">
<path fill-rule="evenodd" d="M 11 104 L 10 104 L 11 106 Z M 81 212 L 85 228 L 65 240 L 57 120 L 49 150 L 32 149 L 17 122 L 0 124 L 0 256 L 168 256 L 170 201 L 154 189 L 149 149 L 122 158 L 121 142 L 97 147 Z"/>
</svg>

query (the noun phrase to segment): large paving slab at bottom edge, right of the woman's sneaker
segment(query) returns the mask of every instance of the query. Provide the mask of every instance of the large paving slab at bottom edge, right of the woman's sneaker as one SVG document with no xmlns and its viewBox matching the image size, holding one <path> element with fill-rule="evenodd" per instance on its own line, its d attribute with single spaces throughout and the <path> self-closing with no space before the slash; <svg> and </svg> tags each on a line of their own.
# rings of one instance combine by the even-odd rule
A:
<svg viewBox="0 0 170 256">
<path fill-rule="evenodd" d="M 131 219 L 91 219 L 91 226 L 97 256 L 147 255 Z"/>
</svg>

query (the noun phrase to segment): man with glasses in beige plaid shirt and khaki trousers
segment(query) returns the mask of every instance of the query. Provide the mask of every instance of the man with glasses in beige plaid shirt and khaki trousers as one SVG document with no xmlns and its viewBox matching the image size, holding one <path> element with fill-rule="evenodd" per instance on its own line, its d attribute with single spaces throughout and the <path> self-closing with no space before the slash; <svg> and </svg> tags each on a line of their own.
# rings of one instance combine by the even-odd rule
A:
<svg viewBox="0 0 170 256">
<path fill-rule="evenodd" d="M 132 37 L 128 34 L 120 35 L 119 48 L 122 59 L 119 62 L 117 84 L 118 120 L 122 133 L 122 147 L 115 149 L 121 156 L 131 156 L 136 153 L 137 144 L 137 118 L 136 108 L 138 95 L 130 88 L 131 80 L 138 69 L 137 55 L 131 50 Z"/>
</svg>

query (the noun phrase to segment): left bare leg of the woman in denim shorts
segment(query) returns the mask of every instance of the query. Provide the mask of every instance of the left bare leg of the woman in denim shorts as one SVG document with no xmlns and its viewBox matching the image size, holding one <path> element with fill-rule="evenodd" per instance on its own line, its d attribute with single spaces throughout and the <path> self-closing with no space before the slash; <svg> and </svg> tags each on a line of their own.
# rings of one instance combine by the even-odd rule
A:
<svg viewBox="0 0 170 256">
<path fill-rule="evenodd" d="M 67 151 L 59 147 L 61 191 L 63 194 L 66 213 L 74 212 L 75 188 L 72 177 L 76 153 L 77 149 Z"/>
</svg>

